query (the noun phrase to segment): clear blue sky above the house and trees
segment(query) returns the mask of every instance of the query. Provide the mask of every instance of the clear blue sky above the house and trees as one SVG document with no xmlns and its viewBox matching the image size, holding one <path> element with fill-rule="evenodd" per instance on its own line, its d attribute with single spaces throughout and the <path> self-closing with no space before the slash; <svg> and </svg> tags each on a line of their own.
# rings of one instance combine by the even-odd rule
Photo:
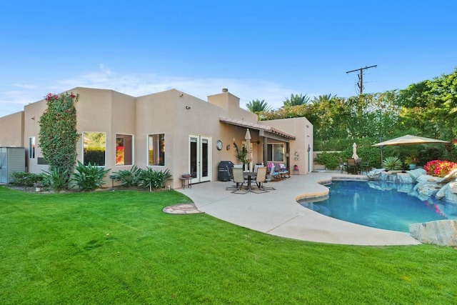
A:
<svg viewBox="0 0 457 305">
<path fill-rule="evenodd" d="M 0 116 L 76 86 L 141 96 L 228 88 L 273 109 L 291 94 L 404 89 L 457 66 L 457 1 L 1 1 Z"/>
</svg>

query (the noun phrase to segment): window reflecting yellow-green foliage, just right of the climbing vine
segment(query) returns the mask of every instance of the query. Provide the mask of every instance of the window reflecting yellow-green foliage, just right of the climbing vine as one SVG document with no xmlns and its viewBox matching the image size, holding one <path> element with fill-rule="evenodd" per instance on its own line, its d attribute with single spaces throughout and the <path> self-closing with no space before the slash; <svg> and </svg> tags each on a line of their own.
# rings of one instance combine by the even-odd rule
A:
<svg viewBox="0 0 457 305">
<path fill-rule="evenodd" d="M 83 132 L 83 164 L 106 165 L 106 133 L 84 131 Z"/>
</svg>

